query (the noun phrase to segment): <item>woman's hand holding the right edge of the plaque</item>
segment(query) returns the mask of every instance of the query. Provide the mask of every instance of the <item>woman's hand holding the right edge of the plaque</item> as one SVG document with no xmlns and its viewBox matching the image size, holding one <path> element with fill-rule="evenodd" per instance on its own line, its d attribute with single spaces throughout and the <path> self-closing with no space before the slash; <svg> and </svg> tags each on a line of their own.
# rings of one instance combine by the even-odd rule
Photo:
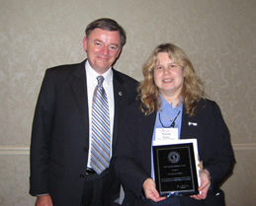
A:
<svg viewBox="0 0 256 206">
<path fill-rule="evenodd" d="M 200 172 L 200 179 L 201 179 L 201 185 L 199 187 L 199 191 L 201 191 L 201 194 L 198 195 L 192 195 L 191 197 L 201 200 L 201 199 L 206 199 L 208 196 L 208 190 L 211 185 L 211 176 L 210 172 L 207 170 L 203 170 Z"/>
</svg>

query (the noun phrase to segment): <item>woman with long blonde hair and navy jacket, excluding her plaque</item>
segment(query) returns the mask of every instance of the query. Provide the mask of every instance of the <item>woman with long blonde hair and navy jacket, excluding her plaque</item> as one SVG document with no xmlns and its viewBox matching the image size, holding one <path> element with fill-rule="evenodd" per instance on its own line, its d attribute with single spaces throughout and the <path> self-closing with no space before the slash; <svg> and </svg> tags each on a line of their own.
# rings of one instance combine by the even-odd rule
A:
<svg viewBox="0 0 256 206">
<path fill-rule="evenodd" d="M 235 163 L 229 132 L 218 105 L 204 97 L 202 82 L 189 58 L 174 44 L 160 44 L 145 62 L 143 76 L 139 101 L 131 104 L 124 115 L 114 154 L 115 170 L 125 190 L 123 205 L 224 205 L 218 186 Z M 197 139 L 203 163 L 201 183 L 191 194 L 182 189 L 162 194 L 155 183 L 158 171 L 154 168 L 153 146 L 184 139 Z M 172 154 L 168 159 L 178 156 Z M 180 179 L 187 178 L 177 173 Z M 171 172 L 165 177 L 168 175 L 172 177 Z M 191 186 L 184 182 L 169 185 Z"/>
</svg>

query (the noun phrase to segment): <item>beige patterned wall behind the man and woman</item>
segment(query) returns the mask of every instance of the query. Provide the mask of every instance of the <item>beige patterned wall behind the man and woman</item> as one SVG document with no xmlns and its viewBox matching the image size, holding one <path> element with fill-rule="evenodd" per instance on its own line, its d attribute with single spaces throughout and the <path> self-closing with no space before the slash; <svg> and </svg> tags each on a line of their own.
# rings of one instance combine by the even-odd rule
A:
<svg viewBox="0 0 256 206">
<path fill-rule="evenodd" d="M 33 205 L 31 124 L 44 70 L 80 62 L 84 29 L 110 17 L 128 33 L 116 69 L 142 79 L 161 42 L 191 58 L 222 110 L 237 164 L 222 185 L 227 206 L 256 202 L 255 0 L 0 0 L 0 205 Z"/>
</svg>

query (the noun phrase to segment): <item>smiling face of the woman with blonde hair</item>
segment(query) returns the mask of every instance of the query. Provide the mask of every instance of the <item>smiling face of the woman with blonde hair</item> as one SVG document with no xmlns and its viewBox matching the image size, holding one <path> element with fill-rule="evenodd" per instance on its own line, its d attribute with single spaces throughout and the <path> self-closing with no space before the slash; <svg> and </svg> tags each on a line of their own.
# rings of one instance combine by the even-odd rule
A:
<svg viewBox="0 0 256 206">
<path fill-rule="evenodd" d="M 157 54 L 157 63 L 154 69 L 154 82 L 163 97 L 180 96 L 184 83 L 183 68 L 169 58 L 167 52 Z"/>
</svg>

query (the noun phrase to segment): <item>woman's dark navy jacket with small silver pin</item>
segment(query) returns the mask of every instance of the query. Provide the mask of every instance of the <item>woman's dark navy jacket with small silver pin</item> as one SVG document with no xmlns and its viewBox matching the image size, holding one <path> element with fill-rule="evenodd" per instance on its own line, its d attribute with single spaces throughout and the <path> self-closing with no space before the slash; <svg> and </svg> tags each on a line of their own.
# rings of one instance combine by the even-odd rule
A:
<svg viewBox="0 0 256 206">
<path fill-rule="evenodd" d="M 126 127 L 118 140 L 118 150 L 115 154 L 117 159 L 115 169 L 126 191 L 124 205 L 133 206 L 148 203 L 139 198 L 144 180 L 151 176 L 151 143 L 157 113 L 154 111 L 145 116 L 140 111 L 139 104 L 139 102 L 132 103 L 126 111 L 126 119 L 123 123 Z M 213 195 L 216 191 L 222 194 L 217 187 L 232 172 L 235 161 L 229 132 L 217 104 L 209 100 L 201 100 L 193 117 L 190 117 L 183 107 L 180 138 L 198 140 L 200 159 L 204 168 L 211 173 L 211 191 Z M 207 199 L 212 199 L 211 192 Z M 181 205 L 204 205 L 207 201 L 184 197 L 181 198 Z"/>
</svg>

